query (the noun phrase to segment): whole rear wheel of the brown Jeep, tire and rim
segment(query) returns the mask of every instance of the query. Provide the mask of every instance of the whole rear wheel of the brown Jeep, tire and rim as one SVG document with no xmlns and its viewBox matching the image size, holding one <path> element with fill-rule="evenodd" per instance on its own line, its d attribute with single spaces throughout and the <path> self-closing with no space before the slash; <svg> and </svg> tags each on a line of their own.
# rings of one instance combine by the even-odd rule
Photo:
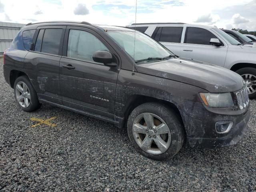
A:
<svg viewBox="0 0 256 192">
<path fill-rule="evenodd" d="M 27 76 L 19 76 L 15 80 L 14 96 L 18 106 L 26 112 L 37 110 L 41 106 L 36 91 Z"/>
</svg>

